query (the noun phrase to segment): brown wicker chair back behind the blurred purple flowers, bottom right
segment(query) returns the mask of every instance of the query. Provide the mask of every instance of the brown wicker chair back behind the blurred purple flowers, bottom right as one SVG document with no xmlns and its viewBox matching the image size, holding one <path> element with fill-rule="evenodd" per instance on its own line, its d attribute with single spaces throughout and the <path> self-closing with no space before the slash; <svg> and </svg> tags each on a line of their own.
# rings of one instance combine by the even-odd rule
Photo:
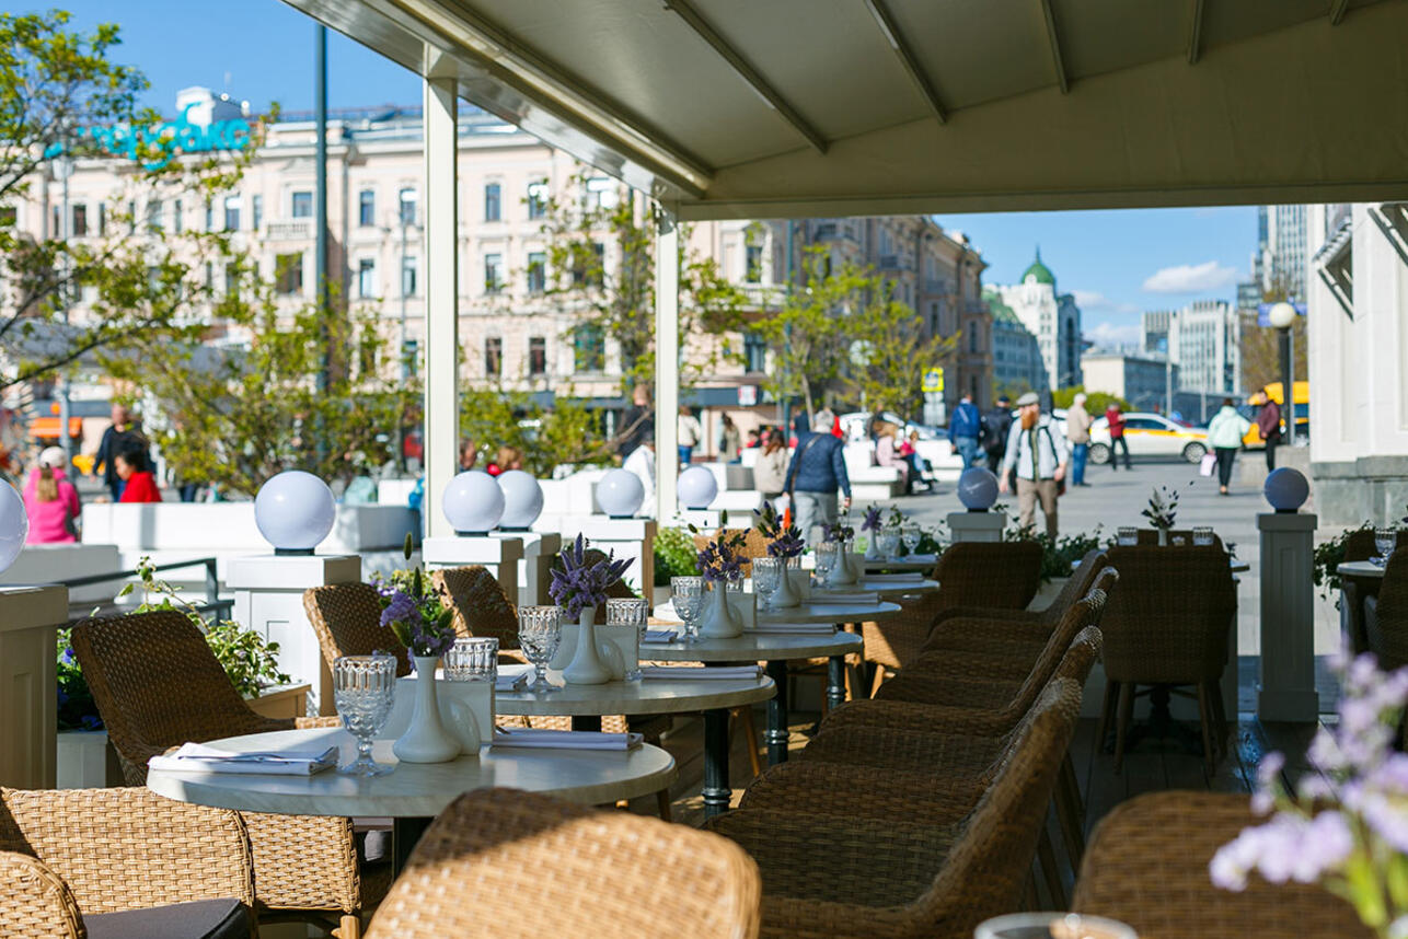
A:
<svg viewBox="0 0 1408 939">
<path fill-rule="evenodd" d="M 1095 826 L 1071 909 L 1128 924 L 1142 939 L 1370 939 L 1353 908 L 1309 884 L 1218 890 L 1208 862 L 1257 824 L 1246 795 L 1149 793 L 1117 805 Z"/>
</svg>

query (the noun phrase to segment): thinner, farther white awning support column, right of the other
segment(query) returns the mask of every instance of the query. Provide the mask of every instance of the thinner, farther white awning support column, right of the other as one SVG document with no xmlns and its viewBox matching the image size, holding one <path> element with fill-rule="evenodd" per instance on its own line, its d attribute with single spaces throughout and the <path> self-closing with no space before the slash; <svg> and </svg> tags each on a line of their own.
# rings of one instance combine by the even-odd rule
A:
<svg viewBox="0 0 1408 939">
<path fill-rule="evenodd" d="M 680 229 L 669 206 L 655 228 L 655 518 L 669 525 L 680 476 Z M 649 590 L 649 586 L 646 586 Z"/>
</svg>

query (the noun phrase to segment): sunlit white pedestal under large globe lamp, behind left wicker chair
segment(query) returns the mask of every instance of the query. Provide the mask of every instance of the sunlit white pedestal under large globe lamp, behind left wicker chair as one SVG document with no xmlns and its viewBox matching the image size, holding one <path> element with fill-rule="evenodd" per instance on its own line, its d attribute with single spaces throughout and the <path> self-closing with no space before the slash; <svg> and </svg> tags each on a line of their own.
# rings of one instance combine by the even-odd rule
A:
<svg viewBox="0 0 1408 939">
<path fill-rule="evenodd" d="M 253 555 L 232 557 L 225 583 L 235 591 L 235 622 L 279 643 L 279 669 L 306 683 L 308 710 L 337 714 L 332 673 L 303 611 L 310 587 L 362 580 L 360 555 Z"/>
</svg>

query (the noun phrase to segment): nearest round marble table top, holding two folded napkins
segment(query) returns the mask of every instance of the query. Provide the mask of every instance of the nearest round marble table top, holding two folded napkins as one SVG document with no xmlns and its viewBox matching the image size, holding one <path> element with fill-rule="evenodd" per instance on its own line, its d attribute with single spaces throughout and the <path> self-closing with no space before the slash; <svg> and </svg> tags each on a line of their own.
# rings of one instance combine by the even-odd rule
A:
<svg viewBox="0 0 1408 939">
<path fill-rule="evenodd" d="M 656 793 L 679 776 L 674 757 L 650 745 L 631 750 L 484 746 L 477 756 L 460 755 L 449 763 L 397 763 L 391 743 L 377 741 L 372 755 L 377 763 L 396 763 L 396 770 L 372 779 L 337 770 L 313 776 L 151 770 L 146 787 L 182 802 L 244 812 L 431 818 L 469 790 L 521 788 L 600 805 Z M 251 733 L 210 745 L 237 752 L 337 745 L 339 763 L 356 756 L 356 742 L 341 728 Z"/>
</svg>

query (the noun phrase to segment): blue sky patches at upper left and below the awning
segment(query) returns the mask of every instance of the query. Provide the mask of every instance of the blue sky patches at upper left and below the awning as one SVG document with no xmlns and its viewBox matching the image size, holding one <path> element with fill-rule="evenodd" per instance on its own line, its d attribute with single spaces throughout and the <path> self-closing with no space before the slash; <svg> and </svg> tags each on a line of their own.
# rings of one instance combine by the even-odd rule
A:
<svg viewBox="0 0 1408 939">
<path fill-rule="evenodd" d="M 30 10 L 51 6 L 32 4 Z M 75 24 L 121 25 L 118 61 L 152 83 L 148 103 L 172 110 L 176 90 L 204 84 L 256 111 L 313 107 L 313 21 L 279 0 L 54 0 Z M 328 34 L 329 107 L 418 104 L 420 79 Z M 1139 313 L 1236 296 L 1256 248 L 1256 208 L 1164 208 L 939 215 L 988 263 L 984 283 L 1014 283 L 1041 245 L 1057 287 L 1074 293 L 1087 338 L 1133 341 Z"/>
</svg>

